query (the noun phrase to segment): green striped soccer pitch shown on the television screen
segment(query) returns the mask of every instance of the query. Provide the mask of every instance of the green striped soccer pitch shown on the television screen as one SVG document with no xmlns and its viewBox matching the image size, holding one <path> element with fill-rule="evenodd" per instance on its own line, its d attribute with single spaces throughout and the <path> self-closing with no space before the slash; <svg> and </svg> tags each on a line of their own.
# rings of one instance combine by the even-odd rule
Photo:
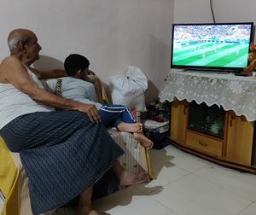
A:
<svg viewBox="0 0 256 215">
<path fill-rule="evenodd" d="M 172 65 L 195 67 L 247 67 L 249 43 L 225 41 L 176 41 Z"/>
</svg>

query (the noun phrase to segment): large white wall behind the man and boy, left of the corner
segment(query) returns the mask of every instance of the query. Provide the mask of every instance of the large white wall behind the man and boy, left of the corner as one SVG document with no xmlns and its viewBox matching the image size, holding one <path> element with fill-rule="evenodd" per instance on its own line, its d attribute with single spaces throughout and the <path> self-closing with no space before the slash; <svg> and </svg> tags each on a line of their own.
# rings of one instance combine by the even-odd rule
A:
<svg viewBox="0 0 256 215">
<path fill-rule="evenodd" d="M 154 99 L 170 67 L 173 1 L 1 0 L 0 60 L 9 55 L 9 32 L 29 28 L 43 47 L 35 67 L 60 67 L 68 54 L 79 53 L 107 84 L 129 65 L 140 67 Z"/>
</svg>

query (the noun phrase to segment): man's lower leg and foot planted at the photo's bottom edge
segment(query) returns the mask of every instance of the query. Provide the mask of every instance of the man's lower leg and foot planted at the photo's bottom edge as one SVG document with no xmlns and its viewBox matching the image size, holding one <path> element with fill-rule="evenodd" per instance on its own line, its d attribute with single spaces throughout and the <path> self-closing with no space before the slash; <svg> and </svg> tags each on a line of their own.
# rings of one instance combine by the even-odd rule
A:
<svg viewBox="0 0 256 215">
<path fill-rule="evenodd" d="M 106 214 L 109 214 L 106 212 L 98 212 L 96 210 L 92 210 L 91 196 L 92 196 L 92 187 L 85 189 L 84 192 L 80 195 L 78 214 L 79 215 L 104 215 L 104 214 L 106 215 Z"/>
</svg>

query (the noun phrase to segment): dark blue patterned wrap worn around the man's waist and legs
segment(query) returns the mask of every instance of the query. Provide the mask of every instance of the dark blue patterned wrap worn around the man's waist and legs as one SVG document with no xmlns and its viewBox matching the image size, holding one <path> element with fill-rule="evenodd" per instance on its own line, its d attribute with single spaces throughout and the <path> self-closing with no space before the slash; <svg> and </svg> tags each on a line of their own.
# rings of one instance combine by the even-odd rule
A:
<svg viewBox="0 0 256 215">
<path fill-rule="evenodd" d="M 22 115 L 0 135 L 11 151 L 20 152 L 34 214 L 73 200 L 124 154 L 102 123 L 78 111 Z"/>
</svg>

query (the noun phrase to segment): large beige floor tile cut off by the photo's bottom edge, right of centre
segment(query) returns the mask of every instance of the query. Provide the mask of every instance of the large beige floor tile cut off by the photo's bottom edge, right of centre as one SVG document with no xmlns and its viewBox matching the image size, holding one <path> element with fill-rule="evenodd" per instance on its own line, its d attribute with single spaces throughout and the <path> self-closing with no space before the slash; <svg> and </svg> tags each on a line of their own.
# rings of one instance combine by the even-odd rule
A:
<svg viewBox="0 0 256 215">
<path fill-rule="evenodd" d="M 252 203 L 193 173 L 151 197 L 179 215 L 236 215 Z"/>
</svg>

